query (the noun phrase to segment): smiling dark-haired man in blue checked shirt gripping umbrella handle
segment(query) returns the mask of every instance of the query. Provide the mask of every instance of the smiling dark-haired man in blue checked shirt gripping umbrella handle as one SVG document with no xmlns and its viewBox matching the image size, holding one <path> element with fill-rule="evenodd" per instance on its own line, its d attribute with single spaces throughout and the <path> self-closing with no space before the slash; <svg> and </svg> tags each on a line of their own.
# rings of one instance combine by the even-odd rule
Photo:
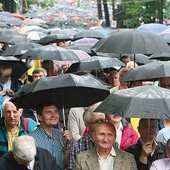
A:
<svg viewBox="0 0 170 170">
<path fill-rule="evenodd" d="M 64 160 L 67 160 L 71 148 L 71 133 L 56 127 L 59 122 L 59 111 L 51 101 L 40 103 L 37 107 L 40 126 L 30 136 L 34 137 L 37 146 L 47 149 L 56 158 L 57 165 L 64 169 Z"/>
</svg>

